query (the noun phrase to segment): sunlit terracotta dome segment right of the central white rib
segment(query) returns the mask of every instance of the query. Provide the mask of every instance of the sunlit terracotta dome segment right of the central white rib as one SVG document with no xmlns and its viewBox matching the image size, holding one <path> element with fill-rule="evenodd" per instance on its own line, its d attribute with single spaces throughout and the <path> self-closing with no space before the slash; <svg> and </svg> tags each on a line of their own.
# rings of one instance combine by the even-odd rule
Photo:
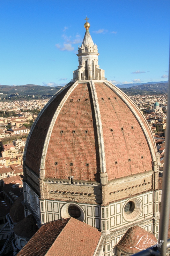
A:
<svg viewBox="0 0 170 256">
<path fill-rule="evenodd" d="M 103 128 L 108 180 L 152 170 L 150 149 L 137 118 L 110 88 L 102 83 L 95 85 Z M 141 116 L 139 112 L 140 110 L 137 110 L 137 114 Z M 113 129 L 113 132 L 110 132 L 110 129 Z M 151 130 L 148 133 L 150 134 Z"/>
</svg>

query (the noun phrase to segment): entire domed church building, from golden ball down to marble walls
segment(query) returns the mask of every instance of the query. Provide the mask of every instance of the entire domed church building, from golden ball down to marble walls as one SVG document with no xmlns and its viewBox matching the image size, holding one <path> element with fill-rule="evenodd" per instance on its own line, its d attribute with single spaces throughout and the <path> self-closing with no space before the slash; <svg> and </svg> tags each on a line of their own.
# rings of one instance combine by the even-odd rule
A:
<svg viewBox="0 0 170 256">
<path fill-rule="evenodd" d="M 105 79 L 85 23 L 73 81 L 34 122 L 24 158 L 25 216 L 38 226 L 73 217 L 105 237 L 104 256 L 139 226 L 158 239 L 160 156 L 141 111 Z M 125 254 L 120 254 L 125 255 Z"/>
</svg>

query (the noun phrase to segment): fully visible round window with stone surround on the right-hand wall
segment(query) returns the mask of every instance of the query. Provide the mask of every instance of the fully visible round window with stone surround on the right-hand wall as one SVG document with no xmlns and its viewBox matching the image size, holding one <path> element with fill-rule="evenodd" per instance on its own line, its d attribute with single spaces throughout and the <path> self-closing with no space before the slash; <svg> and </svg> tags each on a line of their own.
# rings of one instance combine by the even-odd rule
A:
<svg viewBox="0 0 170 256">
<path fill-rule="evenodd" d="M 123 217 L 127 221 L 136 220 L 142 211 L 142 202 L 139 198 L 131 198 L 124 204 Z"/>
</svg>

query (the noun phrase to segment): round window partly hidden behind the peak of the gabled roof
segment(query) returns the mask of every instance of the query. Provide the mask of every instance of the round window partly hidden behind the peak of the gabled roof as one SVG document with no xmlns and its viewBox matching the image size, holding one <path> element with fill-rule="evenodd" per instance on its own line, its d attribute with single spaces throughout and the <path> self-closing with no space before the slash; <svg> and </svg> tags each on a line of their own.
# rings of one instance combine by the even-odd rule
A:
<svg viewBox="0 0 170 256">
<path fill-rule="evenodd" d="M 85 213 L 80 205 L 74 203 L 66 203 L 61 208 L 61 217 L 63 219 L 73 217 L 83 222 L 85 220 Z"/>
</svg>

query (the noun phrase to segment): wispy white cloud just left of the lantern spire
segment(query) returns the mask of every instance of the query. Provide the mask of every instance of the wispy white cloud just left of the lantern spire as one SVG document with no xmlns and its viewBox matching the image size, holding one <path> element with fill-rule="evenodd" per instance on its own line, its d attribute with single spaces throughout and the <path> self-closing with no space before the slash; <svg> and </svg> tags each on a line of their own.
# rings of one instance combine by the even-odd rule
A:
<svg viewBox="0 0 170 256">
<path fill-rule="evenodd" d="M 80 44 L 82 43 L 83 39 L 81 38 L 81 36 L 79 34 L 77 34 L 75 36 L 75 38 L 72 38 L 72 36 L 67 36 L 67 35 L 62 35 L 63 39 L 64 39 L 64 43 L 63 45 L 61 44 L 55 44 L 55 46 L 60 50 L 60 51 L 73 51 L 74 47 L 72 46 L 72 44 Z"/>
</svg>

